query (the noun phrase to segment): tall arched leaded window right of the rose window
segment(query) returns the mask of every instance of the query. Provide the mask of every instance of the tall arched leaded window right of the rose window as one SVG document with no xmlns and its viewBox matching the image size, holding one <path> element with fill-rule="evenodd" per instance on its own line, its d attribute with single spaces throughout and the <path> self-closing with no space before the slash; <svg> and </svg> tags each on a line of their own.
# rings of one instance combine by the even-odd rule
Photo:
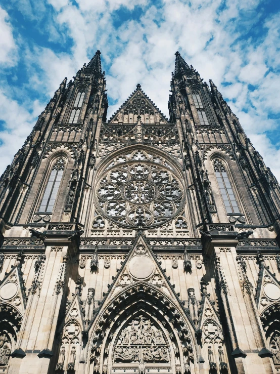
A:
<svg viewBox="0 0 280 374">
<path fill-rule="evenodd" d="M 221 191 L 226 213 L 240 213 L 224 164 L 218 158 L 213 161 L 215 175 Z"/>
</svg>

